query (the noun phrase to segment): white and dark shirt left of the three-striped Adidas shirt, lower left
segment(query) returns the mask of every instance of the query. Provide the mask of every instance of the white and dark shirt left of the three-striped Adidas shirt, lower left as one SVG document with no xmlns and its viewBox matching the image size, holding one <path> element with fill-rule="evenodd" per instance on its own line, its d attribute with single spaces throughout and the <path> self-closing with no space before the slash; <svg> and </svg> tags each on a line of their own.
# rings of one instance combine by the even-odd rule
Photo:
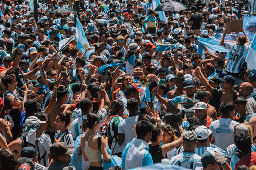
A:
<svg viewBox="0 0 256 170">
<path fill-rule="evenodd" d="M 50 136 L 45 133 L 42 133 L 40 137 L 40 142 L 39 142 L 39 152 L 40 152 L 40 159 L 41 159 L 40 164 L 46 167 L 48 167 L 48 164 L 49 164 L 48 154 L 50 154 L 51 146 L 52 146 L 52 143 L 51 143 Z"/>
</svg>

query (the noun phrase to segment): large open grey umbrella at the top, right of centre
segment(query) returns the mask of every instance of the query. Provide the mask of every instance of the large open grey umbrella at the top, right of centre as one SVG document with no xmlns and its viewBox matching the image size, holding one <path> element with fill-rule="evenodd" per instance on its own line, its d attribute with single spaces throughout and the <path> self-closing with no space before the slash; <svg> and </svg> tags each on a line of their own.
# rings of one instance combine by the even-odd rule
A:
<svg viewBox="0 0 256 170">
<path fill-rule="evenodd" d="M 181 2 L 166 2 L 166 3 L 161 3 L 160 5 L 157 6 L 155 11 L 181 11 L 181 10 L 186 10 L 187 7 L 181 3 Z"/>
</svg>

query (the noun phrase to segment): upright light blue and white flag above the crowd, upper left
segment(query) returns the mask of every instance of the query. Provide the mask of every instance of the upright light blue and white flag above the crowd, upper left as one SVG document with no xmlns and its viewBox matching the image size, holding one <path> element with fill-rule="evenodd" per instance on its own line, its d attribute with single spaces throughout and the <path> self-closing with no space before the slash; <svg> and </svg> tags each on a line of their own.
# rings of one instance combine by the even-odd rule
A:
<svg viewBox="0 0 256 170">
<path fill-rule="evenodd" d="M 76 46 L 82 53 L 85 52 L 86 48 L 90 47 L 90 44 L 85 36 L 83 26 L 78 17 L 76 17 L 76 40 L 78 41 Z"/>
</svg>

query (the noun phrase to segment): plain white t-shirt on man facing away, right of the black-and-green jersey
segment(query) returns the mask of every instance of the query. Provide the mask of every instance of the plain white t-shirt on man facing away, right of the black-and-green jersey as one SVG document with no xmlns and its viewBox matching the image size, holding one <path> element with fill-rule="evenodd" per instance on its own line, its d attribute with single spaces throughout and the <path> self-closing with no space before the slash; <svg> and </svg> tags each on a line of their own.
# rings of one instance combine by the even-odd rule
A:
<svg viewBox="0 0 256 170">
<path fill-rule="evenodd" d="M 137 125 L 139 116 L 127 117 L 122 120 L 118 125 L 118 133 L 124 134 L 123 148 L 136 137 L 136 134 L 133 131 L 133 125 Z"/>
</svg>

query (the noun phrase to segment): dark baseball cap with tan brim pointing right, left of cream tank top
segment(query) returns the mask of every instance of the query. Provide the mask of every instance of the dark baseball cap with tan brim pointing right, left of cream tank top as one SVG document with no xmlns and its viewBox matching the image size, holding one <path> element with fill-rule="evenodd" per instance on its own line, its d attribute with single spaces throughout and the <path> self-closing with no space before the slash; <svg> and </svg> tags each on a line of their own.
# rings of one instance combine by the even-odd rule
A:
<svg viewBox="0 0 256 170">
<path fill-rule="evenodd" d="M 50 147 L 52 155 L 72 154 L 74 149 L 68 148 L 65 142 L 57 142 Z"/>
</svg>

